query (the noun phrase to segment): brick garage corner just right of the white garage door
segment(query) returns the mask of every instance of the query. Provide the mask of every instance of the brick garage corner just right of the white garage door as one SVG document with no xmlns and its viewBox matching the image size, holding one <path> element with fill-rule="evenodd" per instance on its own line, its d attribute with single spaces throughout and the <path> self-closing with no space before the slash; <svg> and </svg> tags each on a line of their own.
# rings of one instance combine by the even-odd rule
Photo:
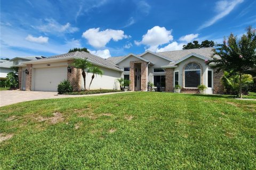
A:
<svg viewBox="0 0 256 170">
<path fill-rule="evenodd" d="M 73 91 L 81 91 L 82 70 L 76 69 L 73 66 L 71 66 L 73 61 L 74 60 L 68 60 L 68 66 L 71 67 L 71 73 L 69 73 L 67 69 L 67 80 L 71 83 Z"/>
</svg>

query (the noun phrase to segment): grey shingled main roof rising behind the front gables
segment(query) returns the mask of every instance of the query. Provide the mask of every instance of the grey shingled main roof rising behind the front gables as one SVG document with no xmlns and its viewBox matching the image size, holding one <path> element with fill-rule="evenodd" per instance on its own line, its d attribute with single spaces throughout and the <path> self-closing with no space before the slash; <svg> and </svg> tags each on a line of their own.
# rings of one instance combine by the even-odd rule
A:
<svg viewBox="0 0 256 170">
<path fill-rule="evenodd" d="M 162 55 L 164 57 L 168 57 L 173 61 L 178 61 L 182 57 L 185 57 L 186 55 L 189 55 L 191 53 L 196 53 L 196 54 L 202 55 L 202 56 L 210 59 L 213 54 L 213 51 L 212 51 L 213 49 L 214 48 L 212 48 L 212 47 L 183 49 L 183 50 L 175 50 L 175 51 L 170 51 L 170 52 L 159 52 L 159 53 L 155 53 L 155 54 Z M 125 56 L 109 57 L 109 58 L 107 58 L 107 60 L 115 64 L 118 62 L 118 60 L 121 60 L 121 58 L 123 58 L 123 57 L 125 57 Z"/>
</svg>

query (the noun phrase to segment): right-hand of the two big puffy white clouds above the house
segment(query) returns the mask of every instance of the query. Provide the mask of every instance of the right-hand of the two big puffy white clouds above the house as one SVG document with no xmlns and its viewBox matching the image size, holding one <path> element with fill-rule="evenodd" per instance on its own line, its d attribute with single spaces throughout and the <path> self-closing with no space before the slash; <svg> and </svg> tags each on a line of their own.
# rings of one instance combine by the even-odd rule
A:
<svg viewBox="0 0 256 170">
<path fill-rule="evenodd" d="M 136 45 L 146 45 L 149 47 L 148 50 L 154 52 L 159 45 L 169 43 L 173 40 L 171 33 L 172 30 L 166 30 L 165 27 L 155 26 L 142 36 L 141 41 L 134 41 L 134 43 Z"/>
</svg>

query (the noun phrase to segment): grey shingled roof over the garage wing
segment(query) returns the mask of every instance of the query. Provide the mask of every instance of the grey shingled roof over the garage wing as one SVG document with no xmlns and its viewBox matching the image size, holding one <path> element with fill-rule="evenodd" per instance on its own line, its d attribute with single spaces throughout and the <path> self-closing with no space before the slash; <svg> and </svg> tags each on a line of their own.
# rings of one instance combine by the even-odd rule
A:
<svg viewBox="0 0 256 170">
<path fill-rule="evenodd" d="M 66 54 L 61 54 L 61 55 L 55 55 L 55 56 L 51 56 L 51 57 L 46 57 L 46 58 L 42 58 L 41 60 L 47 60 L 50 58 L 61 58 L 61 57 L 79 57 L 79 58 L 87 58 L 88 60 L 90 60 L 91 62 L 103 65 L 103 66 L 107 66 L 111 69 L 116 69 L 116 70 L 120 70 L 118 68 L 117 65 L 115 65 L 112 62 L 109 62 L 108 60 L 98 57 L 96 55 L 90 54 L 90 53 L 86 53 L 86 52 L 71 52 L 71 53 L 66 53 Z"/>
</svg>

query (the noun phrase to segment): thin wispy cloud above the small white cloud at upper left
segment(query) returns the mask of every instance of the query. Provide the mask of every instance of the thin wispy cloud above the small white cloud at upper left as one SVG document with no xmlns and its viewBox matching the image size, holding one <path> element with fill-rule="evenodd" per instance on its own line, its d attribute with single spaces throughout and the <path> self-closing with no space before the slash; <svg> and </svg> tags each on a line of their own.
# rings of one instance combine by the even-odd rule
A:
<svg viewBox="0 0 256 170">
<path fill-rule="evenodd" d="M 77 27 L 71 27 L 71 24 L 69 22 L 67 22 L 65 25 L 61 25 L 53 19 L 45 19 L 45 21 L 47 22 L 46 24 L 40 25 L 36 28 L 42 32 L 49 33 L 74 33 L 79 30 Z"/>
</svg>

